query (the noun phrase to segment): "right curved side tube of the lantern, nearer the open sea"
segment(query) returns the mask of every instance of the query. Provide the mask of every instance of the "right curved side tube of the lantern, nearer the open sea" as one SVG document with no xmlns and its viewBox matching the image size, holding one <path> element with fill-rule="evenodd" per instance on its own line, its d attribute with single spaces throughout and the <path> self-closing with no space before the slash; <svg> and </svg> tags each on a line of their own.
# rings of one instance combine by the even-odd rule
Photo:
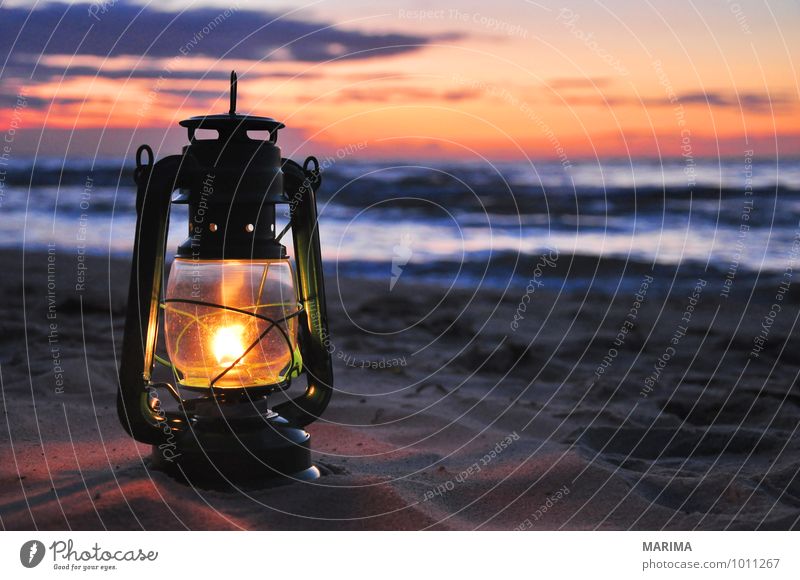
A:
<svg viewBox="0 0 800 580">
<path fill-rule="evenodd" d="M 315 191 L 322 179 L 319 162 L 309 157 L 301 167 L 282 159 L 284 184 L 291 209 L 292 238 L 297 266 L 300 303 L 303 308 L 300 350 L 308 385 L 305 392 L 275 407 L 275 411 L 297 427 L 316 421 L 333 394 L 333 363 L 330 344 L 322 252 Z M 309 167 L 313 165 L 313 169 Z"/>
</svg>

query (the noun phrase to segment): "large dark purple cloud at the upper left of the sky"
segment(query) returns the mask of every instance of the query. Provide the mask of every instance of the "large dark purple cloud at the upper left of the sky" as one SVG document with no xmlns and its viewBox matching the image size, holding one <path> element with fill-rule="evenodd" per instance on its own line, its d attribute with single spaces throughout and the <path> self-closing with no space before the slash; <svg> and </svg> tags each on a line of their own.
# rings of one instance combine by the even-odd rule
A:
<svg viewBox="0 0 800 580">
<path fill-rule="evenodd" d="M 262 60 L 280 49 L 282 60 L 366 59 L 417 50 L 433 39 L 372 34 L 328 23 L 279 18 L 253 10 L 201 8 L 164 12 L 117 2 L 105 14 L 90 4 L 0 7 L 0 54 L 31 63 L 41 54 L 188 56 Z M 3 58 L 5 60 L 5 58 Z M 30 64 L 29 66 L 32 66 Z"/>
</svg>

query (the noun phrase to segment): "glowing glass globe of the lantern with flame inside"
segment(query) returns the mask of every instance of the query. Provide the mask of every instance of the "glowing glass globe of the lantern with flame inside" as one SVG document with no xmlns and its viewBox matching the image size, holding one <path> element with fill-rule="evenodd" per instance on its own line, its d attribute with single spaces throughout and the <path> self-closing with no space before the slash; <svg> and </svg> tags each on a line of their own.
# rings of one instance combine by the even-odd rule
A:
<svg viewBox="0 0 800 580">
<path fill-rule="evenodd" d="M 176 258 L 164 300 L 167 353 L 188 388 L 279 385 L 300 370 L 289 259 Z"/>
</svg>

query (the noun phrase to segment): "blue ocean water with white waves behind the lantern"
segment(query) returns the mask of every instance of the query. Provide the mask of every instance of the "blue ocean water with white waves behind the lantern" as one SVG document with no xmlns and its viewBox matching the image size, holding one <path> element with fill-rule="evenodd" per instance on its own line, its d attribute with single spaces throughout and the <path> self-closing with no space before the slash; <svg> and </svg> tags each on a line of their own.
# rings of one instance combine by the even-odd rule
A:
<svg viewBox="0 0 800 580">
<path fill-rule="evenodd" d="M 390 285 L 402 274 L 503 287 L 548 252 L 781 272 L 800 232 L 798 161 L 329 165 L 318 200 L 327 267 Z M 135 188 L 124 162 L 0 169 L 0 246 L 130 254 Z M 186 210 L 174 209 L 170 249 L 185 237 Z"/>
</svg>

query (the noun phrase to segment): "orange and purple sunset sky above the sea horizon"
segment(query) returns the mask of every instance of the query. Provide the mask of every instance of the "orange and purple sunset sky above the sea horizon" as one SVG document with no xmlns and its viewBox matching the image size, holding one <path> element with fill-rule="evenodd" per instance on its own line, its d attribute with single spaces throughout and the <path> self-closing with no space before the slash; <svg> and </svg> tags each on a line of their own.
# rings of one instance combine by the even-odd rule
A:
<svg viewBox="0 0 800 580">
<path fill-rule="evenodd" d="M 796 157 L 798 25 L 793 0 L 12 0 L 0 133 L 18 158 L 176 152 L 236 69 L 289 156 Z"/>
</svg>

